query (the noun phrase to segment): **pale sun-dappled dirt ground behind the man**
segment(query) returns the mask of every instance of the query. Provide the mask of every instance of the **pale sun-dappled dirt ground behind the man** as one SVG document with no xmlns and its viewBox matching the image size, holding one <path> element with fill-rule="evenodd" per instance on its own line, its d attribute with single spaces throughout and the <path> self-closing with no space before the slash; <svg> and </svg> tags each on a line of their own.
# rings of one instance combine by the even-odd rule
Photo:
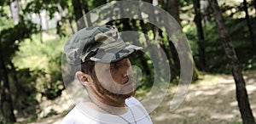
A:
<svg viewBox="0 0 256 124">
<path fill-rule="evenodd" d="M 253 115 L 256 117 L 256 99 L 254 99 L 256 97 L 256 93 L 254 93 L 256 91 L 256 72 L 245 73 L 244 78 L 247 82 L 247 93 Z M 174 91 L 175 87 L 170 88 L 158 108 L 150 113 L 154 124 L 241 123 L 240 111 L 236 102 L 236 87 L 232 76 L 201 76 L 201 80 L 190 85 L 186 99 L 177 110 L 170 111 L 170 101 Z M 69 104 L 72 104 L 68 99 L 66 100 Z M 56 106 L 59 106 L 58 109 L 60 111 L 63 108 L 60 104 Z M 51 105 L 50 108 L 46 109 L 54 108 L 55 106 Z M 65 113 L 35 121 L 31 124 L 57 124 L 60 123 L 63 116 L 65 116 Z"/>
</svg>

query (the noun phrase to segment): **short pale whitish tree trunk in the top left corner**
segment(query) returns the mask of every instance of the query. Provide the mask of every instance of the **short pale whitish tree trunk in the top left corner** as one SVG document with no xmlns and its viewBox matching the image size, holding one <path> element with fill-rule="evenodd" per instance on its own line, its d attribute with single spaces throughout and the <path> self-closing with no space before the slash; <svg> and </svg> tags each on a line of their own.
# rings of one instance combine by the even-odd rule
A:
<svg viewBox="0 0 256 124">
<path fill-rule="evenodd" d="M 17 24 L 20 21 L 20 7 L 18 0 L 12 0 L 10 3 L 10 10 L 14 23 Z"/>
</svg>

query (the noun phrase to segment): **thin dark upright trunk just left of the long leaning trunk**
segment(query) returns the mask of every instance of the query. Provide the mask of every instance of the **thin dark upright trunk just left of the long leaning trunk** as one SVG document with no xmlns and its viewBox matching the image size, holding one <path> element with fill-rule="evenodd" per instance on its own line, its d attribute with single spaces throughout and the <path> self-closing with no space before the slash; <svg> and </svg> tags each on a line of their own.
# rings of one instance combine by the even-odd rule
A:
<svg viewBox="0 0 256 124">
<path fill-rule="evenodd" d="M 194 9 L 195 9 L 195 25 L 198 37 L 198 53 L 199 53 L 199 68 L 204 70 L 206 66 L 206 59 L 205 59 L 205 37 L 203 33 L 203 28 L 201 24 L 201 9 L 200 9 L 200 2 L 199 0 L 193 0 Z"/>
</svg>

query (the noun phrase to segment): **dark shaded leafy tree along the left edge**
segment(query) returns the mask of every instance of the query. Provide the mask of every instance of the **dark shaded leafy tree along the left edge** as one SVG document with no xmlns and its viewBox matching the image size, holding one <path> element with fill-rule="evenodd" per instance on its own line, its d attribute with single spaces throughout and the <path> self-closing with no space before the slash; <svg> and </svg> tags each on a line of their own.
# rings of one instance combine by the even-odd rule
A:
<svg viewBox="0 0 256 124">
<path fill-rule="evenodd" d="M 8 2 L 3 1 L 1 6 L 7 6 Z M 17 5 L 18 6 L 18 5 Z M 9 20 L 7 14 L 0 11 L 3 20 Z M 12 11 L 11 11 L 12 12 Z M 19 14 L 18 12 L 15 14 Z M 19 15 L 20 16 L 20 15 Z M 4 24 L 4 23 L 3 23 Z M 9 74 L 12 70 L 9 69 L 10 61 L 14 57 L 15 52 L 19 50 L 19 43 L 30 37 L 34 33 L 36 26 L 31 21 L 24 20 L 19 17 L 19 23 L 14 26 L 1 29 L 0 34 L 0 121 L 1 122 L 15 122 L 14 104 L 11 96 L 13 91 L 9 87 Z"/>
</svg>

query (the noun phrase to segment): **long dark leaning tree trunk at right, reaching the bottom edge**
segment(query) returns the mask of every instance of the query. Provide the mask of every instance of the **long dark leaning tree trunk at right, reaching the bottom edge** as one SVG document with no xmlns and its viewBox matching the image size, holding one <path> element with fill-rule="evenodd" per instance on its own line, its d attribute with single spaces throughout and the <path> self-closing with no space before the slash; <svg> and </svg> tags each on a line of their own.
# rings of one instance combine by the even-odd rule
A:
<svg viewBox="0 0 256 124">
<path fill-rule="evenodd" d="M 229 62 L 232 75 L 236 82 L 236 99 L 237 99 L 238 107 L 241 113 L 242 123 L 255 124 L 255 121 L 253 118 L 253 112 L 250 108 L 250 104 L 248 100 L 245 81 L 241 73 L 241 66 L 239 65 L 239 60 L 236 57 L 236 51 L 233 48 L 233 45 L 230 39 L 230 34 L 228 33 L 227 28 L 225 27 L 224 17 L 221 14 L 217 0 L 208 0 L 208 1 L 213 9 L 213 16 L 216 20 L 219 36 L 224 46 L 225 56 Z"/>
</svg>

